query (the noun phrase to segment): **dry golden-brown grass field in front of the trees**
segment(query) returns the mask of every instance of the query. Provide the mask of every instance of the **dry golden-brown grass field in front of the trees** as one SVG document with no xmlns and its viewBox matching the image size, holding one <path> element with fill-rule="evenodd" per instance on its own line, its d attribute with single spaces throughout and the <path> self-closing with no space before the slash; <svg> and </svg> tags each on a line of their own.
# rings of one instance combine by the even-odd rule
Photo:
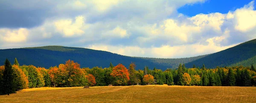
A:
<svg viewBox="0 0 256 103">
<path fill-rule="evenodd" d="M 102 86 L 24 89 L 0 95 L 0 103 L 65 102 L 253 102 L 256 87 L 236 86 Z"/>
</svg>

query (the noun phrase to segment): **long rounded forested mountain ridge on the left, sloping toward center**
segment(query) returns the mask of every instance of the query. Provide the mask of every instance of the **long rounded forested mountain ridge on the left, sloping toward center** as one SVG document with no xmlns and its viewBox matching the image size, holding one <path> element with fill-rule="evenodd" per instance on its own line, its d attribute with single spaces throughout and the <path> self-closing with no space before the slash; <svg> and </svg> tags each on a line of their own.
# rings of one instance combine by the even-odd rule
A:
<svg viewBox="0 0 256 103">
<path fill-rule="evenodd" d="M 205 56 L 207 55 L 180 59 L 129 57 L 111 52 L 64 46 L 0 49 L 0 63 L 4 63 L 6 58 L 13 63 L 16 57 L 20 65 L 34 65 L 45 68 L 58 66 L 70 59 L 79 63 L 81 67 L 89 68 L 94 66 L 109 67 L 110 62 L 113 65 L 122 63 L 128 68 L 129 64 L 134 62 L 137 66 L 136 69 L 143 69 L 145 66 L 148 66 L 150 69 L 156 67 L 157 69 L 166 70 L 167 68 L 176 68 L 180 63 L 189 63 Z"/>
</svg>

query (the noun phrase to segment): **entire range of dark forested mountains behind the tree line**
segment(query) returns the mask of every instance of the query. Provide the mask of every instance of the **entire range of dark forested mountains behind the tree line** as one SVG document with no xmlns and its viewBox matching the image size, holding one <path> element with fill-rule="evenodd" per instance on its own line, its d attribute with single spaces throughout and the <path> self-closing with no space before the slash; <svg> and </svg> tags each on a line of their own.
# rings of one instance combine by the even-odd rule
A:
<svg viewBox="0 0 256 103">
<path fill-rule="evenodd" d="M 109 67 L 110 62 L 113 65 L 122 63 L 127 68 L 131 62 L 134 62 L 136 69 L 143 69 L 148 66 L 150 69 L 156 67 L 162 70 L 177 68 L 180 63 L 185 63 L 188 68 L 193 65 L 201 67 L 203 64 L 207 68 L 215 68 L 216 66 L 250 66 L 252 63 L 256 64 L 256 39 L 221 52 L 179 59 L 129 57 L 111 52 L 65 46 L 0 49 L 0 63 L 4 63 L 6 58 L 13 63 L 15 57 L 20 65 L 34 65 L 45 68 L 58 66 L 69 59 L 78 62 L 81 67 L 89 68 L 94 66 Z"/>
</svg>

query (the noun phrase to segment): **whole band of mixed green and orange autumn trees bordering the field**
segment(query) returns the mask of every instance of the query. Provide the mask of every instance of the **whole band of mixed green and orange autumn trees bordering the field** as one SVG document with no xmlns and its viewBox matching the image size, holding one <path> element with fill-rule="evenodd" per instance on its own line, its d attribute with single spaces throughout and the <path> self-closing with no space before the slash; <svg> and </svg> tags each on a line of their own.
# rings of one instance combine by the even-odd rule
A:
<svg viewBox="0 0 256 103">
<path fill-rule="evenodd" d="M 80 68 L 79 63 L 67 60 L 65 64 L 45 69 L 32 65 L 20 66 L 17 58 L 12 65 L 8 59 L 0 66 L 0 94 L 11 94 L 21 89 L 37 87 L 74 86 L 130 86 L 130 85 L 180 85 L 180 86 L 255 86 L 256 69 L 248 67 L 216 67 L 207 69 L 186 68 L 180 64 L 177 69 L 136 70 L 136 64 L 128 68 L 119 63 L 108 68 Z"/>
</svg>

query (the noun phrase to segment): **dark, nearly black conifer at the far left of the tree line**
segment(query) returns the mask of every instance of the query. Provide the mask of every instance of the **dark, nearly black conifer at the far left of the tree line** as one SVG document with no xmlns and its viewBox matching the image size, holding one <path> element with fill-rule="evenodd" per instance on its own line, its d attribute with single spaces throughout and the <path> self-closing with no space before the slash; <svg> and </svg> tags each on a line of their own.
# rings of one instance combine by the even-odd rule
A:
<svg viewBox="0 0 256 103">
<path fill-rule="evenodd" d="M 5 69 L 3 71 L 3 94 L 11 94 L 15 93 L 15 86 L 14 86 L 14 77 L 13 77 L 13 70 L 12 64 L 8 59 L 6 59 L 4 63 Z"/>
</svg>

